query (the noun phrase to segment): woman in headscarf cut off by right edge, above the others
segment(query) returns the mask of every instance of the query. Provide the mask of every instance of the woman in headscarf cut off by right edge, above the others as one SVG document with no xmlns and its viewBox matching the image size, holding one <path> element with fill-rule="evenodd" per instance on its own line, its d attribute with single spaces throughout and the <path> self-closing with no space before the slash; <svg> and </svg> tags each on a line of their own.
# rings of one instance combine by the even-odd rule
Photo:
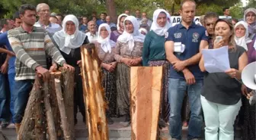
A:
<svg viewBox="0 0 256 140">
<path fill-rule="evenodd" d="M 254 39 L 254 37 L 256 37 L 256 9 L 248 8 L 245 10 L 244 20 L 249 24 L 248 31 L 250 39 Z"/>
</svg>

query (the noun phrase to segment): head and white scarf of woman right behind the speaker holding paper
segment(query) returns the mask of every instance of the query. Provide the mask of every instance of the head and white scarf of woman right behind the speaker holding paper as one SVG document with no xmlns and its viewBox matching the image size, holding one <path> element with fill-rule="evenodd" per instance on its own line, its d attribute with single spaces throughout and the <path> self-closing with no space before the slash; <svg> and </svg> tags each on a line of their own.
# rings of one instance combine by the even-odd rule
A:
<svg viewBox="0 0 256 140">
<path fill-rule="evenodd" d="M 235 43 L 248 51 L 248 43 L 251 42 L 248 33 L 248 23 L 239 21 L 235 24 Z"/>
</svg>

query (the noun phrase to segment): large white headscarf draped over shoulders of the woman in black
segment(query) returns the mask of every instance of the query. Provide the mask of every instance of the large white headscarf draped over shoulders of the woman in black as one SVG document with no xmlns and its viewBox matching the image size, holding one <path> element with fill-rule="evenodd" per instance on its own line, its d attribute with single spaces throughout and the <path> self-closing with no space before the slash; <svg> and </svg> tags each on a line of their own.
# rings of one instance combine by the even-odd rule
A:
<svg viewBox="0 0 256 140">
<path fill-rule="evenodd" d="M 73 35 L 66 33 L 66 22 L 68 21 L 75 23 L 75 33 Z M 62 30 L 53 35 L 53 39 L 59 46 L 59 49 L 66 54 L 69 54 L 72 48 L 79 48 L 85 41 L 86 35 L 78 30 L 78 26 L 78 19 L 74 15 L 69 14 L 63 19 Z"/>
</svg>

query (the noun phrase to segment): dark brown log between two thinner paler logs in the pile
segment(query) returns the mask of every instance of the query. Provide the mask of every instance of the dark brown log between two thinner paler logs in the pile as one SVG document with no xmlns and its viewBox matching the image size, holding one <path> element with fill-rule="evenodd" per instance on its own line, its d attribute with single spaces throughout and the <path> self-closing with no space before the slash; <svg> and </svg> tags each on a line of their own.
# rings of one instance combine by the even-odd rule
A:
<svg viewBox="0 0 256 140">
<path fill-rule="evenodd" d="M 56 96 L 56 90 L 55 90 L 55 77 L 60 77 L 61 72 L 56 71 L 56 72 L 51 72 L 50 73 L 50 80 L 49 80 L 49 91 L 50 91 L 50 105 L 52 107 L 52 111 L 54 114 L 54 125 L 56 128 L 56 134 L 57 138 L 62 137 L 62 129 L 60 127 L 60 114 L 59 114 L 59 107 L 58 107 L 58 101 L 57 101 L 57 96 Z"/>
</svg>

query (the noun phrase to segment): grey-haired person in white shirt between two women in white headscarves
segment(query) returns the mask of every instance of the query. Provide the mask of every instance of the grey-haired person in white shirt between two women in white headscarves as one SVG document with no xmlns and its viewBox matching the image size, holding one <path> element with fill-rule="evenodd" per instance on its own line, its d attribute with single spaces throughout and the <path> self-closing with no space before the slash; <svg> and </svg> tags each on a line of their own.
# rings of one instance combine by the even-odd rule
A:
<svg viewBox="0 0 256 140">
<path fill-rule="evenodd" d="M 98 39 L 98 32 L 97 32 L 97 27 L 96 27 L 96 22 L 94 21 L 89 21 L 88 22 L 88 30 L 89 32 L 86 33 L 86 36 L 88 36 L 88 40 L 91 43 L 97 42 Z"/>
</svg>

